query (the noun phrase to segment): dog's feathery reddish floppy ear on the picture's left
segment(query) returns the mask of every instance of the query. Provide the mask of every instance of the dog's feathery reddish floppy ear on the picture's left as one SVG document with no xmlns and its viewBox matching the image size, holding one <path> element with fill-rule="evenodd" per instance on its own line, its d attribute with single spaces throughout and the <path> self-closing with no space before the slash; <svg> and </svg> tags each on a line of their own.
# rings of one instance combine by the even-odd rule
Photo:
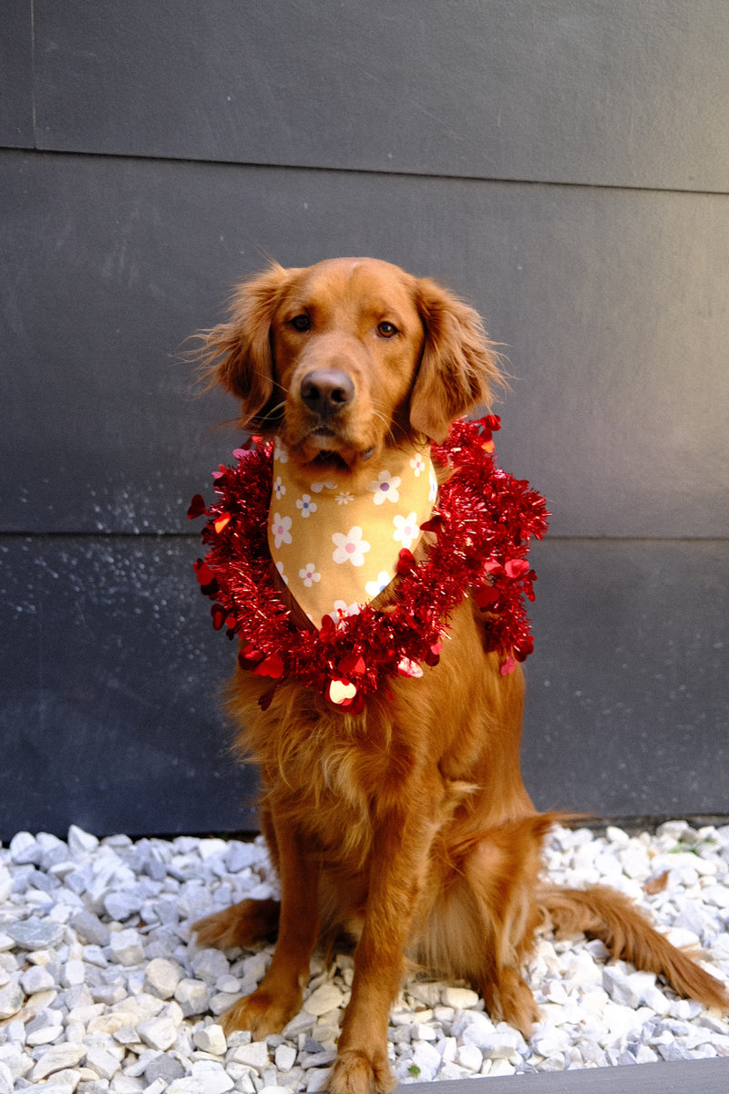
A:
<svg viewBox="0 0 729 1094">
<path fill-rule="evenodd" d="M 231 304 L 231 318 L 202 334 L 199 358 L 208 387 L 220 384 L 240 399 L 244 426 L 266 430 L 280 399 L 274 392 L 271 323 L 293 269 L 272 263 L 244 281 Z"/>
</svg>

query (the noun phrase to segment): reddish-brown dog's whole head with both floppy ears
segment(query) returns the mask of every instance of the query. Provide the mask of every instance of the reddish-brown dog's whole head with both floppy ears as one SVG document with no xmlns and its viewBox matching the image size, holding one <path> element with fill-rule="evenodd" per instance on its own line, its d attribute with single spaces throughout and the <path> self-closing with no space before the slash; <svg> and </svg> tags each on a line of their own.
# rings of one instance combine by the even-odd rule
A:
<svg viewBox="0 0 729 1094">
<path fill-rule="evenodd" d="M 240 286 L 203 357 L 244 427 L 278 433 L 302 468 L 353 476 L 387 446 L 443 440 L 501 379 L 472 309 L 373 258 L 272 266 Z"/>
</svg>

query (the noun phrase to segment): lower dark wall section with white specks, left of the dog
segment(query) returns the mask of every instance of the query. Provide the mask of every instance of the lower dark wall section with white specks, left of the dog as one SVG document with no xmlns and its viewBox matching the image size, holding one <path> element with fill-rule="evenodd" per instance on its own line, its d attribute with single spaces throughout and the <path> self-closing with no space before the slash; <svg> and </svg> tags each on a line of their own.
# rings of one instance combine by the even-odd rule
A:
<svg viewBox="0 0 729 1094">
<path fill-rule="evenodd" d="M 254 776 L 217 703 L 235 650 L 210 624 L 197 552 L 184 538 L 0 539 L 0 840 L 255 826 Z"/>
</svg>

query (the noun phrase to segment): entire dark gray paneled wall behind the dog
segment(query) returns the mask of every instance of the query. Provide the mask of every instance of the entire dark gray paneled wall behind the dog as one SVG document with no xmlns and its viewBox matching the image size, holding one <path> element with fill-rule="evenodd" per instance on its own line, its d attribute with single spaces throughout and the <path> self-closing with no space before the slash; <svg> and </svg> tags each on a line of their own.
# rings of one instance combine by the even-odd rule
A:
<svg viewBox="0 0 729 1094">
<path fill-rule="evenodd" d="M 538 804 L 728 813 L 724 0 L 0 20 L 0 838 L 255 823 L 185 517 L 235 408 L 179 351 L 267 255 L 435 276 L 505 344 Z"/>
</svg>

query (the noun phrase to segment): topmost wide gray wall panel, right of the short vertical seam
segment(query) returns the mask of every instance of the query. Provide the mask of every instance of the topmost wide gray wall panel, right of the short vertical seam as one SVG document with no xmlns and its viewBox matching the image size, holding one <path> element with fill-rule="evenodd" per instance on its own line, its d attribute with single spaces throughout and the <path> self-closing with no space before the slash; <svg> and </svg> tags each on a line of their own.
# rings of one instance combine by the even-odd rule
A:
<svg viewBox="0 0 729 1094">
<path fill-rule="evenodd" d="M 724 0 L 36 0 L 38 147 L 729 188 Z"/>
</svg>

